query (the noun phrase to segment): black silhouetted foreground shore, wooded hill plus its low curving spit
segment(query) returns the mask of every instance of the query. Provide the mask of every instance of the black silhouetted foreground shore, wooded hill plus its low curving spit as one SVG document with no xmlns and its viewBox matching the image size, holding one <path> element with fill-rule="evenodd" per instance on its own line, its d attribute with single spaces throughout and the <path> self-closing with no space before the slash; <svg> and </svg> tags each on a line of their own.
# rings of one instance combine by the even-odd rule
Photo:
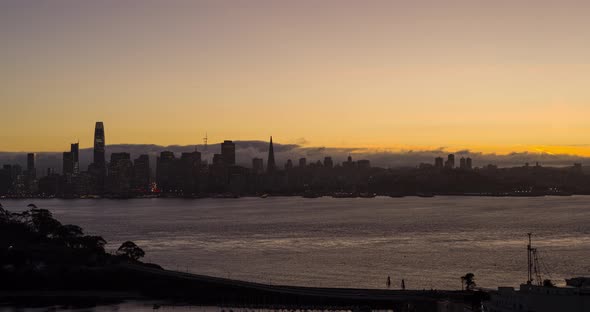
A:
<svg viewBox="0 0 590 312">
<path fill-rule="evenodd" d="M 116 254 L 106 241 L 62 225 L 44 209 L 0 208 L 0 304 L 103 304 L 158 299 L 195 305 L 437 311 L 441 304 L 477 310 L 485 293 L 266 285 L 164 270 L 139 261 L 131 242 Z"/>
</svg>

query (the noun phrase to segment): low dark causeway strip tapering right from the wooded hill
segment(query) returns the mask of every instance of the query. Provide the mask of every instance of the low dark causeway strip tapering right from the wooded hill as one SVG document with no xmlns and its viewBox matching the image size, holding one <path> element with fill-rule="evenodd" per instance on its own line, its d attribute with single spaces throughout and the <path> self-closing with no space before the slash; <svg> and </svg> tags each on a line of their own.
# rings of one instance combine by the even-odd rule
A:
<svg viewBox="0 0 590 312">
<path fill-rule="evenodd" d="M 441 302 L 477 307 L 485 293 L 474 291 L 423 291 L 322 288 L 268 285 L 143 266 L 125 266 L 126 278 L 141 281 L 150 297 L 195 304 L 266 307 L 310 307 L 436 311 Z"/>
</svg>

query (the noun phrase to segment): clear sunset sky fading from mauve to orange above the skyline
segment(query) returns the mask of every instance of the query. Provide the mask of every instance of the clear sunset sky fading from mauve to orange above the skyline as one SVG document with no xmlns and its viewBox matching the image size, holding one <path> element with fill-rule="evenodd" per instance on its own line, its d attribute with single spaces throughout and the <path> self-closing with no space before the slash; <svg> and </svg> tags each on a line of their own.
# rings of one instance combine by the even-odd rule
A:
<svg viewBox="0 0 590 312">
<path fill-rule="evenodd" d="M 0 2 L 0 150 L 267 139 L 590 155 L 588 1 Z"/>
</svg>

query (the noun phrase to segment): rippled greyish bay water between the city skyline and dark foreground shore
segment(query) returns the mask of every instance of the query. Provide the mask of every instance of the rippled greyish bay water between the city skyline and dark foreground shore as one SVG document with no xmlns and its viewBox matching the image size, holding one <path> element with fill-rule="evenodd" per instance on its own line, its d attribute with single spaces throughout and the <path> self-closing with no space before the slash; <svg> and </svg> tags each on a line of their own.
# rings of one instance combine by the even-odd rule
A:
<svg viewBox="0 0 590 312">
<path fill-rule="evenodd" d="M 590 196 L 14 200 L 135 241 L 168 269 L 272 284 L 460 289 L 526 280 L 526 233 L 551 275 L 590 275 Z"/>
</svg>

